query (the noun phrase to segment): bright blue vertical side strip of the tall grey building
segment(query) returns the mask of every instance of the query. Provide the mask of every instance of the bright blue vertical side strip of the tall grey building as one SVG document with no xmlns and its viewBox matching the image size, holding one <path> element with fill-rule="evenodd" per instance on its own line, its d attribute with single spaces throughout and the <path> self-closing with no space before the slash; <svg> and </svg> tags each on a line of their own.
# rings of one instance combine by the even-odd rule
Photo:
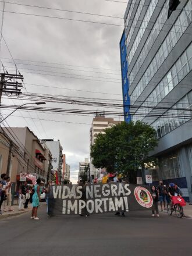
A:
<svg viewBox="0 0 192 256">
<path fill-rule="evenodd" d="M 125 31 L 123 30 L 122 38 L 120 39 L 120 66 L 122 72 L 122 93 L 123 93 L 123 111 L 125 122 L 130 122 L 130 97 L 129 97 L 129 80 L 127 79 L 128 63 L 127 63 L 127 48 L 125 40 Z"/>
</svg>

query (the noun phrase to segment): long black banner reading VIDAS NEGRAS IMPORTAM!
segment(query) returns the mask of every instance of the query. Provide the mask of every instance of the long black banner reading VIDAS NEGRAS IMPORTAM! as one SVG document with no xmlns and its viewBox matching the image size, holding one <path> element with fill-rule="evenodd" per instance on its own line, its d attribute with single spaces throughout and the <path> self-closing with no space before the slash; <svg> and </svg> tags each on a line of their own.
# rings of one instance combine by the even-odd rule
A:
<svg viewBox="0 0 192 256">
<path fill-rule="evenodd" d="M 49 188 L 48 214 L 103 214 L 128 212 L 152 207 L 152 196 L 146 186 L 129 183 L 61 185 Z"/>
</svg>

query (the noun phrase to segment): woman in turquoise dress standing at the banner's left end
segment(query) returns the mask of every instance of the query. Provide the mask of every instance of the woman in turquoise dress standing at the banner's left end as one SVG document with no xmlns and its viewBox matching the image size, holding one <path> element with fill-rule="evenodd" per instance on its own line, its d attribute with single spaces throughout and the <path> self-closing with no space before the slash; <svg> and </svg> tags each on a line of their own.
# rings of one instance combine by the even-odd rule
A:
<svg viewBox="0 0 192 256">
<path fill-rule="evenodd" d="M 35 219 L 36 221 L 39 220 L 39 218 L 37 217 L 37 210 L 38 210 L 38 206 L 40 205 L 40 201 L 41 201 L 41 179 L 38 178 L 37 179 L 37 184 L 34 185 L 34 194 L 33 194 L 33 209 L 31 212 L 31 219 Z"/>
</svg>

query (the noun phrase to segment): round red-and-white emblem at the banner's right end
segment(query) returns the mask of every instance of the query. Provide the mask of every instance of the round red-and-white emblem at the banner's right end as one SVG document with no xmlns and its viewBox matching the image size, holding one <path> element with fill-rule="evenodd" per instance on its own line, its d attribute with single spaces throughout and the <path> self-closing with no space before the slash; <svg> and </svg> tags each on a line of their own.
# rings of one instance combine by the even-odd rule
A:
<svg viewBox="0 0 192 256">
<path fill-rule="evenodd" d="M 150 191 L 145 189 L 145 187 L 136 187 L 134 189 L 134 196 L 141 206 L 145 208 L 151 208 L 153 204 L 152 196 Z"/>
</svg>

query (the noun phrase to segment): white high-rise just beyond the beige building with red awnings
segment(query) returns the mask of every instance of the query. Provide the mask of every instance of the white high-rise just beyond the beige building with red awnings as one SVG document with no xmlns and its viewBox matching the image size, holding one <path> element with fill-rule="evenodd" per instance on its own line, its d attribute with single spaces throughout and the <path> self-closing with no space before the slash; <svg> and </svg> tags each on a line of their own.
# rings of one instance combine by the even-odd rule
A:
<svg viewBox="0 0 192 256">
<path fill-rule="evenodd" d="M 43 139 L 41 142 L 45 142 L 49 150 L 51 151 L 52 158 L 55 159 L 54 162 L 52 162 L 53 170 L 58 171 L 58 177 L 59 182 L 62 180 L 62 163 L 63 163 L 63 154 L 62 154 L 62 146 L 59 140 L 54 141 L 51 139 Z"/>
</svg>

